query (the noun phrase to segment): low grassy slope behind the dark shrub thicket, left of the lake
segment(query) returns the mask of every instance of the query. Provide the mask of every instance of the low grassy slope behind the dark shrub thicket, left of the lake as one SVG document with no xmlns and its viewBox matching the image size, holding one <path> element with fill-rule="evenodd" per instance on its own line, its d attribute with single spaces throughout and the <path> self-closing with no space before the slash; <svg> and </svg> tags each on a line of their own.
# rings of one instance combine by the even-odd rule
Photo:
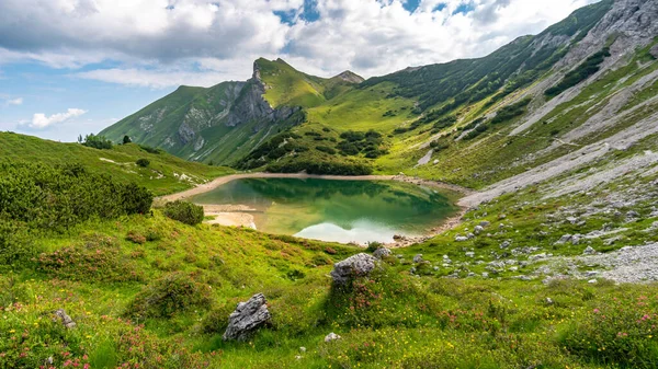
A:
<svg viewBox="0 0 658 369">
<path fill-rule="evenodd" d="M 147 159 L 141 168 L 135 162 Z M 0 161 L 43 162 L 55 165 L 81 163 L 99 174 L 109 174 L 121 182 L 135 182 L 156 195 L 183 191 L 214 177 L 232 172 L 229 168 L 189 162 L 164 151 L 146 151 L 136 143 L 98 150 L 79 143 L 61 143 L 32 136 L 0 132 Z"/>
</svg>

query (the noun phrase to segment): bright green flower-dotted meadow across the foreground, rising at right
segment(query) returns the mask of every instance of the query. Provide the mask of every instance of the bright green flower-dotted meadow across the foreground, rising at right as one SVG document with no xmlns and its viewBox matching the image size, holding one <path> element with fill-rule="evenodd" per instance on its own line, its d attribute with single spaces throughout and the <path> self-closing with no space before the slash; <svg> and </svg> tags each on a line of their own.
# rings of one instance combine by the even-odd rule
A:
<svg viewBox="0 0 658 369">
<path fill-rule="evenodd" d="M 563 181 L 658 151 L 656 142 L 647 137 L 472 209 L 456 229 L 395 250 L 400 257 L 347 288 L 327 275 L 359 252 L 351 246 L 192 227 L 159 209 L 39 232 L 29 243 L 35 257 L 0 265 L 0 366 L 33 368 L 52 357 L 55 368 L 651 368 L 656 285 L 615 285 L 605 275 L 591 284 L 595 264 L 560 257 L 658 242 L 646 231 L 658 172 L 635 168 L 588 196 L 551 195 Z M 619 214 L 609 211 L 615 201 Z M 629 210 L 638 214 L 632 221 Z M 455 241 L 481 221 L 485 233 Z M 412 262 L 417 254 L 427 262 Z M 224 342 L 228 315 L 258 292 L 271 323 L 247 342 Z M 76 328 L 52 320 L 57 309 Z M 325 343 L 329 332 L 341 339 Z"/>
</svg>

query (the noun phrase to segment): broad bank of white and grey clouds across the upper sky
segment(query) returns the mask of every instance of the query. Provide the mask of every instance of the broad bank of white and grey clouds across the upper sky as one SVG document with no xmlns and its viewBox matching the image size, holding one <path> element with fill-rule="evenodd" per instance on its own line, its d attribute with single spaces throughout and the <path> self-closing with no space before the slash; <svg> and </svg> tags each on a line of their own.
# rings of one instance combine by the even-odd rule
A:
<svg viewBox="0 0 658 369">
<path fill-rule="evenodd" d="M 484 56 L 595 1 L 3 0 L 0 64 L 112 60 L 79 77 L 150 88 L 246 79 L 258 56 L 371 77 Z"/>
</svg>

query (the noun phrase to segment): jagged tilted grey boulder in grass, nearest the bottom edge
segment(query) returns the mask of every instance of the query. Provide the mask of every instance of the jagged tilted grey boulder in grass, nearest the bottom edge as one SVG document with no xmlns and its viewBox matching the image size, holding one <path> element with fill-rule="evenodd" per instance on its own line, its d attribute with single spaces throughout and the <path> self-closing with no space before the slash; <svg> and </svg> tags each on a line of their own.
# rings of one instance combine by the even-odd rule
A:
<svg viewBox="0 0 658 369">
<path fill-rule="evenodd" d="M 257 293 L 247 302 L 238 303 L 236 310 L 228 318 L 228 326 L 224 332 L 224 341 L 245 341 L 265 324 L 272 315 L 263 293 Z"/>
</svg>

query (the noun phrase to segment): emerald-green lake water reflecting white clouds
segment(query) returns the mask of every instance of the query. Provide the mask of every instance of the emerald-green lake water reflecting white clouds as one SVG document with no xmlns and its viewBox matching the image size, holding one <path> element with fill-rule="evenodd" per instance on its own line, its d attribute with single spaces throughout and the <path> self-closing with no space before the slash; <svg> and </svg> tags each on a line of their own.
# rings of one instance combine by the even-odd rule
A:
<svg viewBox="0 0 658 369">
<path fill-rule="evenodd" d="M 264 232 L 358 243 L 422 235 L 456 210 L 435 188 L 394 181 L 243 178 L 192 201 L 247 206 Z"/>
</svg>

